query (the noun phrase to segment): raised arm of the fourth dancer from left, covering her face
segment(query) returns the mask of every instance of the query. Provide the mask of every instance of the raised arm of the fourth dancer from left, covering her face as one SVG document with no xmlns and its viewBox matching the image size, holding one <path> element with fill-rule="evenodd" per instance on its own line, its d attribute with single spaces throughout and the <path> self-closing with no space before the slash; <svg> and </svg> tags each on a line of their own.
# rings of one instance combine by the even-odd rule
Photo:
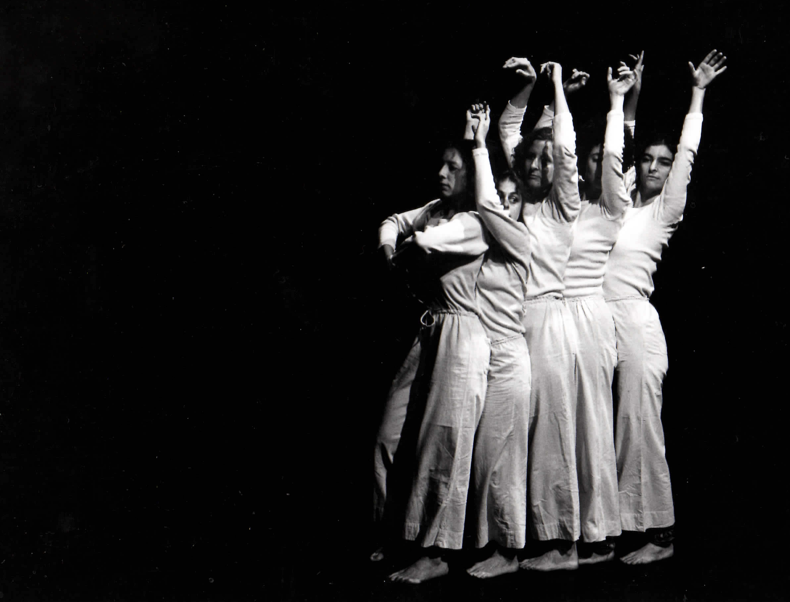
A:
<svg viewBox="0 0 790 602">
<path fill-rule="evenodd" d="M 623 103 L 629 90 L 635 85 L 636 75 L 632 71 L 620 71 L 612 78 L 612 68 L 606 74 L 609 88 L 609 113 L 606 115 L 606 134 L 601 166 L 601 203 L 606 213 L 616 219 L 631 204 L 623 180 Z"/>
</svg>

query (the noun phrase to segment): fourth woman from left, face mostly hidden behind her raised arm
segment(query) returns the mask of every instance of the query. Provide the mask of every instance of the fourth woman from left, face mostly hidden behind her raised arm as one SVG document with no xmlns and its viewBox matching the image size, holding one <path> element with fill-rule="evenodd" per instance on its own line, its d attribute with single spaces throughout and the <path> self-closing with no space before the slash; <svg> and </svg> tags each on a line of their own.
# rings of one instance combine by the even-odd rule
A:
<svg viewBox="0 0 790 602">
<path fill-rule="evenodd" d="M 611 111 L 605 135 L 604 156 L 610 148 L 622 152 L 623 102 L 633 86 L 632 72 L 608 74 Z M 619 118 L 615 118 L 615 113 Z M 604 161 L 609 159 L 604 158 Z M 603 297 L 603 279 L 609 252 L 620 228 L 623 212 L 630 205 L 621 193 L 623 184 L 612 190 L 603 187 L 599 199 L 581 203 L 573 226 L 573 244 L 565 269 L 565 304 L 578 334 L 576 356 L 576 470 L 582 544 L 579 563 L 614 559 L 613 540 L 620 534 L 617 493 L 617 464 L 612 433 L 612 379 L 617 363 L 612 314 Z"/>
</svg>

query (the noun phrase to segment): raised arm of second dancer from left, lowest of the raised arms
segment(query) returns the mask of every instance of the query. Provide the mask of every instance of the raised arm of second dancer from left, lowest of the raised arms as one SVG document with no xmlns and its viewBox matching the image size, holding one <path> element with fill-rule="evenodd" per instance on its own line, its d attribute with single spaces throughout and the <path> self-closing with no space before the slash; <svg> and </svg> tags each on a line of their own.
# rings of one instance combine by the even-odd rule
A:
<svg viewBox="0 0 790 602">
<path fill-rule="evenodd" d="M 475 202 L 477 212 L 486 229 L 513 259 L 529 264 L 529 233 L 521 222 L 511 218 L 497 197 L 491 162 L 486 148 L 486 137 L 491 125 L 490 110 L 478 113 L 475 127 Z"/>
</svg>

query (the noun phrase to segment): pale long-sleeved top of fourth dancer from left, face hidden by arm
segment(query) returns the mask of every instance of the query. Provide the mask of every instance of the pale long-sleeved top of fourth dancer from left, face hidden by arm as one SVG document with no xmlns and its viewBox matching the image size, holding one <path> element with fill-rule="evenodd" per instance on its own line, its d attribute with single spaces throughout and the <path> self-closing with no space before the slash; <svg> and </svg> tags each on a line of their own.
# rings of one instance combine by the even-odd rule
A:
<svg viewBox="0 0 790 602">
<path fill-rule="evenodd" d="M 601 198 L 582 201 L 579 218 L 573 224 L 573 244 L 565 270 L 566 297 L 603 295 L 603 281 L 609 253 L 623 226 L 631 197 L 623 183 L 623 112 L 606 116 Z"/>
</svg>

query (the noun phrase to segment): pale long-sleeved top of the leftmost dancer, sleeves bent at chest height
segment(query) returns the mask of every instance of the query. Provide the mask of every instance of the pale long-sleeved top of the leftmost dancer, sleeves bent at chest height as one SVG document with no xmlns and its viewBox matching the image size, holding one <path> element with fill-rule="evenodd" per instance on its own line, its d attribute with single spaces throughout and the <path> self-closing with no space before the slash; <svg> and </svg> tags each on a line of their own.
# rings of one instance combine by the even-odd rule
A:
<svg viewBox="0 0 790 602">
<path fill-rule="evenodd" d="M 449 215 L 449 217 L 448 217 Z M 441 201 L 388 217 L 379 228 L 379 246 L 411 239 L 426 254 L 423 301 L 431 309 L 477 313 L 475 287 L 488 243 L 474 211 L 456 213 Z"/>
</svg>

